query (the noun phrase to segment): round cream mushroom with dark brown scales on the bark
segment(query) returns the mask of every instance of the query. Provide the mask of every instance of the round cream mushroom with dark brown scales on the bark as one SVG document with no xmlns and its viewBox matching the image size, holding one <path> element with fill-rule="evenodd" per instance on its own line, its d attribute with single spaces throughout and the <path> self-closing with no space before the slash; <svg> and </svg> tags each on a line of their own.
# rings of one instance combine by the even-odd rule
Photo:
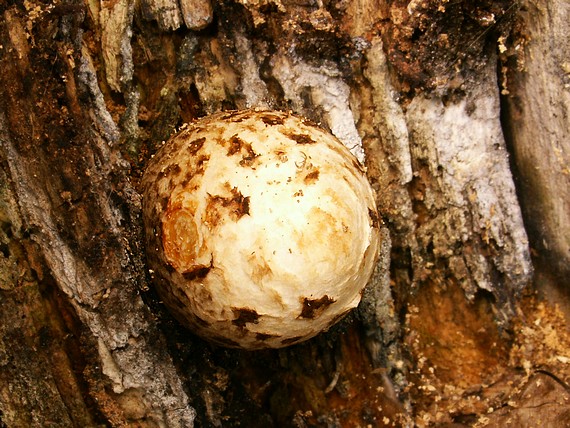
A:
<svg viewBox="0 0 570 428">
<path fill-rule="evenodd" d="M 142 187 L 157 291 L 200 336 L 280 348 L 360 302 L 379 249 L 374 193 L 315 124 L 258 110 L 200 119 L 157 152 Z"/>
</svg>

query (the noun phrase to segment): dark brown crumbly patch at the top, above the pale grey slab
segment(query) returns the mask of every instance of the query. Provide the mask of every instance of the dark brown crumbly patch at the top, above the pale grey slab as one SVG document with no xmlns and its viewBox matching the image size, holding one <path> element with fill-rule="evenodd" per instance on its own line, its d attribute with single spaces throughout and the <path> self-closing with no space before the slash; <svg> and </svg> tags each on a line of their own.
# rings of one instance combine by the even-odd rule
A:
<svg viewBox="0 0 570 428">
<path fill-rule="evenodd" d="M 517 9 L 510 0 L 393 2 L 383 41 L 403 89 L 459 88 L 486 64 Z"/>
</svg>

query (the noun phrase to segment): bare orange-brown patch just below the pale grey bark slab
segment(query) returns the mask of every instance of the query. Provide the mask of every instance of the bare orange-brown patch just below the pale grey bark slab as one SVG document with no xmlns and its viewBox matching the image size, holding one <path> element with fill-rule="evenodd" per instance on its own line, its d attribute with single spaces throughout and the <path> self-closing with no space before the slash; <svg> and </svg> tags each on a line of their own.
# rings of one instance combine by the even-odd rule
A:
<svg viewBox="0 0 570 428">
<path fill-rule="evenodd" d="M 416 358 L 436 367 L 442 382 L 462 387 L 485 383 L 505 362 L 489 294 L 469 302 L 457 284 L 430 284 L 412 300 L 410 312 L 408 339 Z"/>
</svg>

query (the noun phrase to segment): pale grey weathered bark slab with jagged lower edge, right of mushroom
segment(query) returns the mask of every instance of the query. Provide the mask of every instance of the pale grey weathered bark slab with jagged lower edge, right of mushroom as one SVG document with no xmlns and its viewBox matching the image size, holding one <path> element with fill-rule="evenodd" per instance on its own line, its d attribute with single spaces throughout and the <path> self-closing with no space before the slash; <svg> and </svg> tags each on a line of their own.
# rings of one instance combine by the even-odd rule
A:
<svg viewBox="0 0 570 428">
<path fill-rule="evenodd" d="M 468 296 L 490 291 L 500 318 L 508 320 L 532 268 L 500 125 L 493 62 L 458 102 L 414 98 L 406 121 L 417 280 L 453 276 Z"/>
</svg>

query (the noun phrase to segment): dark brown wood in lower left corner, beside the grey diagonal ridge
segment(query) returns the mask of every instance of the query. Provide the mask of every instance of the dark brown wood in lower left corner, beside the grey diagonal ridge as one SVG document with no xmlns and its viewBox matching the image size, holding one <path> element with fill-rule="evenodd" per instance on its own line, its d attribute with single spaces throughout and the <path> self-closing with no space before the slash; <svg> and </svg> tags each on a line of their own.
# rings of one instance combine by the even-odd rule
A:
<svg viewBox="0 0 570 428">
<path fill-rule="evenodd" d="M 49 273 L 27 257 L 36 244 L 24 236 L 4 171 L 0 183 L 0 419 L 4 426 L 95 425 L 97 414 L 83 398 L 87 362 L 69 352 L 78 350 L 81 328 L 66 317 Z"/>
</svg>

